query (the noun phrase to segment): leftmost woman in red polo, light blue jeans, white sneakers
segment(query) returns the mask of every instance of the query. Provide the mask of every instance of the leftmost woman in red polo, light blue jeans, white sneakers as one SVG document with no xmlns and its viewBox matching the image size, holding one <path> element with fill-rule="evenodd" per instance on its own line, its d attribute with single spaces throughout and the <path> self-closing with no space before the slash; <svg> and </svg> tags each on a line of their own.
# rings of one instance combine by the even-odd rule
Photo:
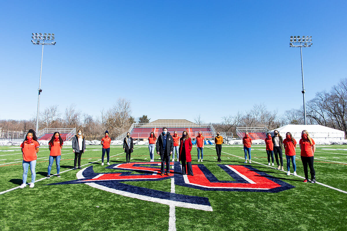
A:
<svg viewBox="0 0 347 231">
<path fill-rule="evenodd" d="M 34 182 L 36 178 L 35 166 L 37 159 L 37 152 L 39 152 L 40 144 L 37 142 L 36 133 L 34 130 L 30 129 L 25 136 L 23 143 L 20 145 L 23 153 L 23 184 L 19 188 L 24 188 L 26 186 L 26 178 L 28 177 L 28 169 L 30 165 L 31 170 L 31 183 L 29 184 L 31 188 L 34 187 Z"/>
</svg>

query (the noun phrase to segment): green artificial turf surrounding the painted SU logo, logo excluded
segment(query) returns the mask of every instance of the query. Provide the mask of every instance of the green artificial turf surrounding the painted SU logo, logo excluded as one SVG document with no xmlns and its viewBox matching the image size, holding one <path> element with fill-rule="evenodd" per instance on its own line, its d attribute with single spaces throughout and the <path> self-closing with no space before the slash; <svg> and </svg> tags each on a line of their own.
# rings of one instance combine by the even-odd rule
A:
<svg viewBox="0 0 347 231">
<path fill-rule="evenodd" d="M 134 149 L 131 161 L 149 161 L 147 146 L 135 145 Z M 302 178 L 287 176 L 286 172 L 267 166 L 264 150 L 264 145 L 252 146 L 251 166 L 295 188 L 279 193 L 223 192 L 175 185 L 178 194 L 209 198 L 213 208 L 213 211 L 202 211 L 176 207 L 176 229 L 347 230 L 347 194 L 323 185 L 303 183 Z M 219 180 L 233 180 L 217 164 L 244 165 L 243 148 L 240 145 L 223 145 L 222 151 L 225 152 L 222 153 L 222 163 L 218 163 L 214 145 L 205 145 L 203 164 Z M 168 205 L 113 194 L 85 184 L 47 185 L 77 179 L 78 171 L 69 170 L 74 162 L 71 148 L 64 147 L 62 154 L 61 178 L 52 176 L 36 182 L 34 188 L 27 186 L 0 195 L 0 230 L 168 230 Z M 48 148 L 41 146 L 37 156 L 41 159 L 37 159 L 36 180 L 46 177 Z M 114 156 L 111 157 L 111 165 L 125 161 L 125 153 L 120 146 L 111 146 L 110 156 Z M 155 155 L 155 161 L 158 157 Z M 299 149 L 297 157 L 300 158 Z M 347 191 L 347 145 L 317 145 L 315 158 L 316 180 Z M 104 166 L 101 166 L 100 159 L 101 146 L 90 145 L 82 156 L 81 165 L 93 166 L 95 173 L 124 171 L 105 169 L 106 157 Z M 193 148 L 192 164 L 197 163 L 197 152 Z M 286 170 L 286 159 L 283 165 Z M 296 165 L 297 174 L 304 176 L 300 159 L 296 159 Z M 276 161 L 273 167 L 277 167 Z M 293 172 L 292 166 L 290 170 Z M 22 154 L 18 146 L 1 146 L 0 192 L 19 186 L 22 174 Z M 56 174 L 55 162 L 51 174 Z M 27 182 L 30 179 L 29 170 Z M 171 180 L 125 184 L 170 192 Z"/>
</svg>

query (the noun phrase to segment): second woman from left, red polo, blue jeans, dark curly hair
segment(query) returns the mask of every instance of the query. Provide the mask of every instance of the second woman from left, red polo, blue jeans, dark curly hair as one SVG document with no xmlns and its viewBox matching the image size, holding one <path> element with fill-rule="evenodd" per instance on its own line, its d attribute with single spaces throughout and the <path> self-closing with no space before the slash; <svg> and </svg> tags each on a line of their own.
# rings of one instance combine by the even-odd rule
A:
<svg viewBox="0 0 347 231">
<path fill-rule="evenodd" d="M 51 169 L 52 169 L 54 159 L 56 159 L 57 177 L 60 177 L 59 171 L 60 171 L 60 157 L 61 157 L 62 147 L 63 147 L 63 139 L 61 139 L 60 133 L 54 132 L 51 140 L 48 142 L 48 148 L 50 150 L 49 164 L 48 164 L 48 170 L 47 170 L 48 179 L 51 177 Z"/>
</svg>

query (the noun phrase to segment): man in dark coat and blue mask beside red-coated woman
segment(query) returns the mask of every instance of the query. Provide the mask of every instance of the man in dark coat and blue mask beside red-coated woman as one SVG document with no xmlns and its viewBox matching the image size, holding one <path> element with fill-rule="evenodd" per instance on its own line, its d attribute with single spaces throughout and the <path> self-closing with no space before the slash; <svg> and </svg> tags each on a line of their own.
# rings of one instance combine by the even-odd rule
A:
<svg viewBox="0 0 347 231">
<path fill-rule="evenodd" d="M 166 164 L 166 175 L 170 176 L 170 155 L 174 151 L 174 139 L 168 132 L 168 128 L 163 127 L 163 132 L 160 133 L 156 141 L 156 153 L 161 159 L 161 176 L 164 176 L 164 163 Z"/>
</svg>

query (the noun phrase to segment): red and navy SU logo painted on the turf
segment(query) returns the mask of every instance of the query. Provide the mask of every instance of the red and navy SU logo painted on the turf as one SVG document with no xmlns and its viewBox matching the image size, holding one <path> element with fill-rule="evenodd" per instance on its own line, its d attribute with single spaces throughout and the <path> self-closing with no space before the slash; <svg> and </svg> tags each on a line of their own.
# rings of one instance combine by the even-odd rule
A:
<svg viewBox="0 0 347 231">
<path fill-rule="evenodd" d="M 95 173 L 93 166 L 77 172 L 77 180 L 50 185 L 86 184 L 111 193 L 152 201 L 161 204 L 212 211 L 209 199 L 124 184 L 126 181 L 154 181 L 173 178 L 175 185 L 214 191 L 245 191 L 277 193 L 294 188 L 282 180 L 274 178 L 249 165 L 218 165 L 232 178 L 230 181 L 218 180 L 203 164 L 192 165 L 194 176 L 182 175 L 179 162 L 174 166 L 171 176 L 160 175 L 161 162 L 134 162 L 110 165 L 107 169 L 122 172 Z M 135 172 L 135 173 L 133 173 Z"/>
</svg>

